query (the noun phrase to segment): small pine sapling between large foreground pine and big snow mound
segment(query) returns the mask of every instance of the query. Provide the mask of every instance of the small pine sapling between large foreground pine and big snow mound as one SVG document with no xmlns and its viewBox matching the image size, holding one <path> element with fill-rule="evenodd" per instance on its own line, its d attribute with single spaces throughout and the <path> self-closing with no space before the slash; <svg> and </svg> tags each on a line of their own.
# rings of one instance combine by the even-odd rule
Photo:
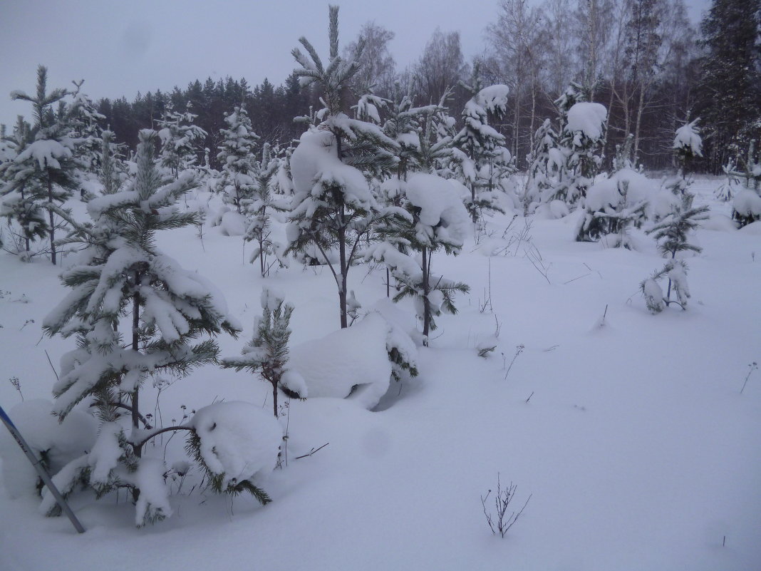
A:
<svg viewBox="0 0 761 571">
<path fill-rule="evenodd" d="M 253 339 L 244 346 L 242 356 L 221 360 L 224 368 L 236 371 L 246 369 L 252 375 L 258 373 L 263 381 L 272 385 L 272 412 L 279 416 L 278 390 L 289 397 L 307 397 L 304 379 L 288 368 L 288 340 L 291 338 L 291 314 L 293 306 L 278 295 L 264 289 L 262 292 L 261 317 L 254 323 Z"/>
</svg>

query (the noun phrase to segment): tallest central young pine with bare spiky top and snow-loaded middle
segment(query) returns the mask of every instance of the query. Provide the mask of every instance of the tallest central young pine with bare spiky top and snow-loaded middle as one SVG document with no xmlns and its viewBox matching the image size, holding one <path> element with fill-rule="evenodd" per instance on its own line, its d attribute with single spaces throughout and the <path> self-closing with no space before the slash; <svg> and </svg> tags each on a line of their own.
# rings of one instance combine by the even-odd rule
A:
<svg viewBox="0 0 761 571">
<path fill-rule="evenodd" d="M 359 69 L 364 43 L 358 42 L 353 56 L 339 56 L 338 7 L 330 6 L 330 60 L 323 65 L 309 41 L 299 41 L 307 55 L 292 52 L 299 68 L 294 74 L 302 85 L 316 85 L 322 93 L 320 125 L 305 132 L 291 157 L 294 197 L 289 250 L 317 247 L 330 267 L 339 294 L 341 327 L 349 327 L 347 296 L 349 268 L 355 262 L 362 238 L 367 236 L 380 213 L 368 179 L 382 176 L 396 166 L 390 151 L 396 143 L 376 125 L 352 119 L 344 112 L 345 91 Z M 330 261 L 328 250 L 338 250 L 338 261 Z"/>
</svg>

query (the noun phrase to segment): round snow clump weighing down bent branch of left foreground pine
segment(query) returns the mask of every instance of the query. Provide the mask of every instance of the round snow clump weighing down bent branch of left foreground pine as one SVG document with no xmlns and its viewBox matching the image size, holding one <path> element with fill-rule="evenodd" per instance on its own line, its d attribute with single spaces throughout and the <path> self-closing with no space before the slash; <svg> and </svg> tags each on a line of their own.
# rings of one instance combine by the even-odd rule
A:
<svg viewBox="0 0 761 571">
<path fill-rule="evenodd" d="M 283 430 L 269 410 L 243 401 L 215 403 L 199 409 L 189 426 L 201 440 L 206 467 L 223 476 L 223 490 L 277 464 Z"/>
</svg>

